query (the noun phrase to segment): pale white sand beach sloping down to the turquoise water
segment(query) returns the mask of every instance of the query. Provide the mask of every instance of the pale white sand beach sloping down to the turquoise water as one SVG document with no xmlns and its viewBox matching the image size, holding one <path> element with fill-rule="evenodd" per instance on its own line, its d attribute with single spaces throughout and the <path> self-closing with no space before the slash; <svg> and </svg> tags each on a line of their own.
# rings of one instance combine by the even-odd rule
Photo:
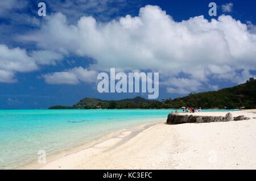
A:
<svg viewBox="0 0 256 181">
<path fill-rule="evenodd" d="M 232 114 L 251 120 L 180 125 L 162 120 L 140 125 L 40 169 L 256 169 L 256 110 Z"/>
</svg>

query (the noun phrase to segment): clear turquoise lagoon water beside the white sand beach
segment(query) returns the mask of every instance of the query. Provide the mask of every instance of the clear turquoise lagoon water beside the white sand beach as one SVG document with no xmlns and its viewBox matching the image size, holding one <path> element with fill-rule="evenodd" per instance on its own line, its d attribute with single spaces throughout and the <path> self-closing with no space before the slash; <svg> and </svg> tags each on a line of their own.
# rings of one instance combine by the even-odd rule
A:
<svg viewBox="0 0 256 181">
<path fill-rule="evenodd" d="M 0 110 L 0 169 L 36 161 L 39 150 L 55 154 L 108 132 L 165 120 L 171 111 Z"/>
</svg>

